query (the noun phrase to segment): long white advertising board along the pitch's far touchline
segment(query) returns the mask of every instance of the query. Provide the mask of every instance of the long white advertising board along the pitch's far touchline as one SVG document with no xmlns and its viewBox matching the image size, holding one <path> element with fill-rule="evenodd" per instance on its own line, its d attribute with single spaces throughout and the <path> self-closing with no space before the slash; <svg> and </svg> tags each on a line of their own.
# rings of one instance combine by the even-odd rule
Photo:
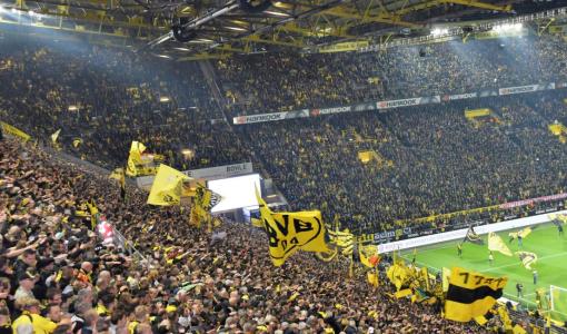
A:
<svg viewBox="0 0 567 334">
<path fill-rule="evenodd" d="M 567 214 L 567 210 L 557 212 L 556 214 L 565 215 L 565 214 Z M 544 214 L 544 215 L 538 215 L 538 216 L 513 219 L 513 220 L 503 222 L 503 223 L 476 226 L 475 232 L 480 235 L 480 234 L 488 234 L 489 232 L 500 232 L 500 230 L 506 230 L 506 229 L 520 228 L 520 227 L 525 227 L 525 226 L 538 225 L 538 224 L 544 224 L 544 223 L 548 223 L 548 222 L 549 222 L 548 214 Z M 397 249 L 408 249 L 408 248 L 414 248 L 414 247 L 427 246 L 427 245 L 431 245 L 431 244 L 462 239 L 462 238 L 465 238 L 465 235 L 467 235 L 467 230 L 468 230 L 468 228 L 461 228 L 461 229 L 446 232 L 446 233 L 438 233 L 438 234 L 411 238 L 411 239 L 405 239 L 405 240 L 399 240 L 399 242 L 394 242 L 394 243 L 388 243 L 388 244 L 381 244 L 381 245 L 378 245 L 378 252 L 379 253 L 389 253 L 389 252 L 397 250 Z"/>
</svg>

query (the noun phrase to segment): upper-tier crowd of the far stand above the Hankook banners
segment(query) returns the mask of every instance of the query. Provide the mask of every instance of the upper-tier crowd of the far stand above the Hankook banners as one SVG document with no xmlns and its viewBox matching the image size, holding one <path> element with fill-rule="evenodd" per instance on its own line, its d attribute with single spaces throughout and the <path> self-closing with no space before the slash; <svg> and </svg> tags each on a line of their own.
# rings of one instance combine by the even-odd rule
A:
<svg viewBox="0 0 567 334">
<path fill-rule="evenodd" d="M 526 36 L 382 52 L 235 57 L 219 60 L 217 75 L 237 116 L 565 81 L 566 56 L 560 37 Z"/>
</svg>

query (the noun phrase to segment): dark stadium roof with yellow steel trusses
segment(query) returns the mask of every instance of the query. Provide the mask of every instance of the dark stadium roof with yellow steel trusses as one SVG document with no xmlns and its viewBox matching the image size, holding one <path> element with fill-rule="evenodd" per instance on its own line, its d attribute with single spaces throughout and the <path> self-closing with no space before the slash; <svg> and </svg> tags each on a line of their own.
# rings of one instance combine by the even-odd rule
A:
<svg viewBox="0 0 567 334">
<path fill-rule="evenodd" d="M 351 41 L 360 48 L 428 37 L 439 27 L 467 33 L 483 29 L 486 20 L 525 18 L 545 27 L 567 7 L 567 0 L 271 1 L 0 0 L 0 22 L 99 35 L 190 60 L 284 49 L 312 52 Z M 534 13 L 541 14 L 529 17 Z"/>
</svg>

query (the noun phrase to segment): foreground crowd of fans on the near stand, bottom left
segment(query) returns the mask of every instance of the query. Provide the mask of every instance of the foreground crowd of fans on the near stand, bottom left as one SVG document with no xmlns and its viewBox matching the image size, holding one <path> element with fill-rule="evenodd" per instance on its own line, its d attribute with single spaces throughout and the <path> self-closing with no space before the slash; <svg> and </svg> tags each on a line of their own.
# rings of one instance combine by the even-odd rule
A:
<svg viewBox="0 0 567 334">
<path fill-rule="evenodd" d="M 340 263 L 297 254 L 272 267 L 259 230 L 197 229 L 178 207 L 152 208 L 136 189 L 125 203 L 106 176 L 11 139 L 0 157 L 2 333 L 485 332 L 394 301 L 361 272 L 347 278 Z M 138 253 L 101 242 L 83 202 Z"/>
</svg>

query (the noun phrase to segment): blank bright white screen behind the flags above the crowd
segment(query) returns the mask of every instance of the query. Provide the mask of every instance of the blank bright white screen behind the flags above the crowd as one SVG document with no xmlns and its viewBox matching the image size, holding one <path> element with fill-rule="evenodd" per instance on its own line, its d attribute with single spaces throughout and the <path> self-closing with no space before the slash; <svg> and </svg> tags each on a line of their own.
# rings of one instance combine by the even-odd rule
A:
<svg viewBox="0 0 567 334">
<path fill-rule="evenodd" d="M 241 207 L 258 208 L 255 185 L 258 191 L 260 191 L 259 174 L 210 180 L 208 183 L 209 189 L 222 197 L 219 204 L 211 209 L 211 213 L 220 213 Z"/>
</svg>

